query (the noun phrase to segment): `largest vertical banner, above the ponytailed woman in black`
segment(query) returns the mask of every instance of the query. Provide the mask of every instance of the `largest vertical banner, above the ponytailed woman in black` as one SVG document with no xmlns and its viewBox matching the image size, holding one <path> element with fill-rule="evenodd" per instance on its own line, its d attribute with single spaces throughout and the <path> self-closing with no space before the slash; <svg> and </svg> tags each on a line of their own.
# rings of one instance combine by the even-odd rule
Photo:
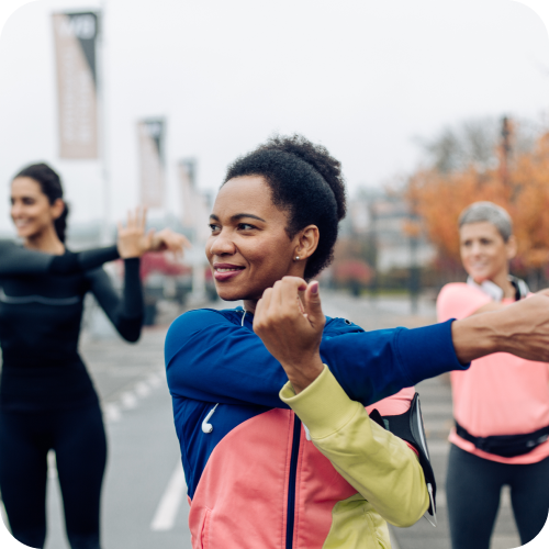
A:
<svg viewBox="0 0 549 549">
<path fill-rule="evenodd" d="M 98 158 L 98 14 L 54 13 L 59 156 Z"/>
</svg>

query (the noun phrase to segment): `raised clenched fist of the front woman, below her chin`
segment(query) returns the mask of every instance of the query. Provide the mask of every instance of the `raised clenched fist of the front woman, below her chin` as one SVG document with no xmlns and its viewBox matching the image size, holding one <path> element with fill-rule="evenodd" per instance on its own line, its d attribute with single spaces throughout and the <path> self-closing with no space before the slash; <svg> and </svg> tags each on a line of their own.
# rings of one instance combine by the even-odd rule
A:
<svg viewBox="0 0 549 549">
<path fill-rule="evenodd" d="M 282 365 L 295 393 L 307 388 L 324 370 L 320 355 L 326 317 L 318 282 L 284 277 L 268 288 L 254 314 L 254 332 Z"/>
</svg>

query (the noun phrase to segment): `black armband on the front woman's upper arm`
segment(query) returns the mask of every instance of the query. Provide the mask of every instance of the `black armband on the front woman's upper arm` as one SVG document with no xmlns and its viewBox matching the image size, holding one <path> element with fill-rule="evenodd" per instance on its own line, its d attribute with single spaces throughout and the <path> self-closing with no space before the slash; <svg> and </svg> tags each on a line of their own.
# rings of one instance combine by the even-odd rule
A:
<svg viewBox="0 0 549 549">
<path fill-rule="evenodd" d="M 372 410 L 370 418 L 381 427 L 391 432 L 393 435 L 402 438 L 412 445 L 419 455 L 419 464 L 422 466 L 427 491 L 429 493 L 429 508 L 425 513 L 425 518 L 433 525 L 437 525 L 436 515 L 436 495 L 437 484 L 435 473 L 430 464 L 429 450 L 427 448 L 427 438 L 423 425 L 422 408 L 419 405 L 419 394 L 415 393 L 410 410 L 400 415 L 382 416 L 377 410 Z M 429 516 L 430 515 L 430 516 Z"/>
</svg>

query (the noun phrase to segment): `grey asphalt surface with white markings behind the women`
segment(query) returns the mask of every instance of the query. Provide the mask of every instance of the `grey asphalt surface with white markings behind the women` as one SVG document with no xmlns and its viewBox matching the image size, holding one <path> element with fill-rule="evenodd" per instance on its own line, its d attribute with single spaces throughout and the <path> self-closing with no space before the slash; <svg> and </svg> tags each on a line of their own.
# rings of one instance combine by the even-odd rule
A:
<svg viewBox="0 0 549 549">
<path fill-rule="evenodd" d="M 217 303 L 214 306 L 232 306 Z M 402 299 L 356 299 L 323 292 L 327 315 L 343 316 L 365 329 L 417 327 L 435 322 L 434 305 L 421 302 L 412 314 Z M 212 306 L 212 305 L 209 305 Z M 81 352 L 101 397 L 109 439 L 103 486 L 103 549 L 187 549 L 188 504 L 171 401 L 164 374 L 163 346 L 169 305 L 160 326 L 145 328 L 139 343 L 125 344 L 99 320 L 83 334 Z M 392 528 L 393 549 L 450 549 L 446 515 L 445 474 L 451 426 L 451 394 L 447 377 L 417 388 L 428 445 L 438 482 L 438 526 L 421 519 L 411 528 Z M 47 494 L 46 549 L 68 549 L 61 501 L 52 456 Z M 504 492 L 491 549 L 519 547 L 508 494 Z M 258 548 L 260 549 L 260 548 Z"/>
</svg>

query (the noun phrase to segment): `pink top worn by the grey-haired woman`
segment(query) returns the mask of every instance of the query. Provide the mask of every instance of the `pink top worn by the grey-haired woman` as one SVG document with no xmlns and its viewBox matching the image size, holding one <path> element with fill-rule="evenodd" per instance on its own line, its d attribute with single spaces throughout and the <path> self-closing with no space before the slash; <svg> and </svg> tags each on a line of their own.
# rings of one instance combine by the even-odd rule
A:
<svg viewBox="0 0 549 549">
<path fill-rule="evenodd" d="M 437 300 L 439 322 L 466 318 L 492 299 L 466 283 L 446 284 Z M 504 300 L 503 303 L 513 303 Z M 522 435 L 549 425 L 549 365 L 497 352 L 450 373 L 453 417 L 471 435 Z M 536 463 L 549 456 L 549 440 L 523 456 L 503 458 L 479 450 L 452 429 L 450 442 L 501 463 Z"/>
</svg>

